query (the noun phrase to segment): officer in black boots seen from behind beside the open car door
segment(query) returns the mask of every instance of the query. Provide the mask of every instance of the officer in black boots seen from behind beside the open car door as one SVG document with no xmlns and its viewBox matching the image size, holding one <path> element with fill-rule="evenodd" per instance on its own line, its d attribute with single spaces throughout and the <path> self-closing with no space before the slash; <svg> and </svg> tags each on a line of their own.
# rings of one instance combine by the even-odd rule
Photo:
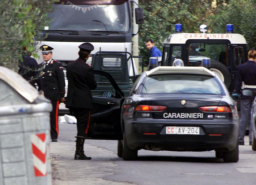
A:
<svg viewBox="0 0 256 185">
<path fill-rule="evenodd" d="M 79 47 L 79 58 L 67 65 L 68 94 L 66 107 L 77 120 L 75 160 L 90 160 L 84 155 L 83 144 L 86 137 L 92 105 L 91 90 L 96 89 L 93 68 L 86 63 L 94 47 L 91 43 L 83 43 Z"/>
</svg>

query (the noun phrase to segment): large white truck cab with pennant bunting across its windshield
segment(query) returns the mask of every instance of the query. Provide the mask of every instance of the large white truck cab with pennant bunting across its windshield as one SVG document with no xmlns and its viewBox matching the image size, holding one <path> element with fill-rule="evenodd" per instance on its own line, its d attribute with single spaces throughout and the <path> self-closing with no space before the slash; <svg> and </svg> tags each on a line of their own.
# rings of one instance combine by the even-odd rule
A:
<svg viewBox="0 0 256 185">
<path fill-rule="evenodd" d="M 93 44 L 92 55 L 98 51 L 132 53 L 132 37 L 136 35 L 132 3 L 137 4 L 131 0 L 60 0 L 52 5 L 53 12 L 48 14 L 52 22 L 42 30 L 38 46 L 53 47 L 53 58 L 63 66 L 78 58 L 78 46 L 84 42 Z M 134 11 L 134 22 L 142 24 L 143 9 L 137 7 Z M 129 60 L 129 74 L 133 75 L 131 66 Z"/>
</svg>

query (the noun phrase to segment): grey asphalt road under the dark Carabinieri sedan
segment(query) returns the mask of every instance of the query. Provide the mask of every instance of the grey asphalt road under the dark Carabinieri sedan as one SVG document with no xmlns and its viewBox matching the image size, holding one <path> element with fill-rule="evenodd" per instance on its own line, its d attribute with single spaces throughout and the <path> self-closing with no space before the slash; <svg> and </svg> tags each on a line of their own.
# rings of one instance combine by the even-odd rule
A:
<svg viewBox="0 0 256 185">
<path fill-rule="evenodd" d="M 138 161 L 117 156 L 117 141 L 86 140 L 90 161 L 74 160 L 76 125 L 59 124 L 59 141 L 50 142 L 53 185 L 254 185 L 256 151 L 240 146 L 237 163 L 208 152 L 138 152 Z"/>
</svg>

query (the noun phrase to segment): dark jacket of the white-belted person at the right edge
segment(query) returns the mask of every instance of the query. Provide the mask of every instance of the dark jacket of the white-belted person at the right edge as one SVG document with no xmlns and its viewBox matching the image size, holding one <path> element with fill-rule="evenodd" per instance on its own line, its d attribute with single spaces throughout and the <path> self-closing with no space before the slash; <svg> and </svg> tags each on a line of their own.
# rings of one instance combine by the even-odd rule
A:
<svg viewBox="0 0 256 185">
<path fill-rule="evenodd" d="M 248 60 L 238 66 L 237 69 L 237 81 L 236 81 L 236 92 L 241 94 L 241 85 L 244 82 L 245 85 L 255 85 L 256 86 L 256 63 L 254 61 Z M 251 89 L 251 88 L 248 88 Z M 256 89 L 252 89 L 256 90 Z M 254 97 L 243 96 L 242 99 L 254 99 Z"/>
</svg>

